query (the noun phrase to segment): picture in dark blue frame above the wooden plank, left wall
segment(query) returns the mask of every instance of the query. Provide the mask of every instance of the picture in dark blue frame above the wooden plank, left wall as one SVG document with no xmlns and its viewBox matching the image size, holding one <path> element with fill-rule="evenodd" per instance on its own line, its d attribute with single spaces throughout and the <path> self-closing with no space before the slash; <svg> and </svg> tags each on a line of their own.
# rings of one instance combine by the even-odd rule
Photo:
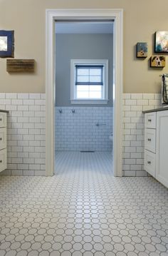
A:
<svg viewBox="0 0 168 256">
<path fill-rule="evenodd" d="M 0 58 L 14 58 L 14 31 L 0 30 Z"/>
</svg>

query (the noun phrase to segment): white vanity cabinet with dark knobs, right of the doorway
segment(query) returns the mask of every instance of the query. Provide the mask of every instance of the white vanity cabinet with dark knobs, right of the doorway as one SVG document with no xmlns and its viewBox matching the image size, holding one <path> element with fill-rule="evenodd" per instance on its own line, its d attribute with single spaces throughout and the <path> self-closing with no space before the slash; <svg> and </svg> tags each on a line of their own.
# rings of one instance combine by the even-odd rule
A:
<svg viewBox="0 0 168 256">
<path fill-rule="evenodd" d="M 144 166 L 168 188 L 168 109 L 145 113 Z"/>
</svg>

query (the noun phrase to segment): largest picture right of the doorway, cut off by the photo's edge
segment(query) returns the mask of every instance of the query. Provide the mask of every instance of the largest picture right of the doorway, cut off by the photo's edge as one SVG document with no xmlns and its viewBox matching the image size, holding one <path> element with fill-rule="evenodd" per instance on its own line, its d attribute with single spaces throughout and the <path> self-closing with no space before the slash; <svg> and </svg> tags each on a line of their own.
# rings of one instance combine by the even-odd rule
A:
<svg viewBox="0 0 168 256">
<path fill-rule="evenodd" d="M 157 31 L 154 42 L 155 53 L 168 53 L 168 31 Z"/>
</svg>

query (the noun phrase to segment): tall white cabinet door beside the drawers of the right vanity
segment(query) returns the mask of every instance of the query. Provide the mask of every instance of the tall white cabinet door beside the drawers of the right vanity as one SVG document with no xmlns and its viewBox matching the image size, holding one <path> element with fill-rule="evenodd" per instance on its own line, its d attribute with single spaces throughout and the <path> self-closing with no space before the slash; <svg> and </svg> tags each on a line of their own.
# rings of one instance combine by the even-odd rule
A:
<svg viewBox="0 0 168 256">
<path fill-rule="evenodd" d="M 168 188 L 168 111 L 157 112 L 156 178 Z"/>
</svg>

